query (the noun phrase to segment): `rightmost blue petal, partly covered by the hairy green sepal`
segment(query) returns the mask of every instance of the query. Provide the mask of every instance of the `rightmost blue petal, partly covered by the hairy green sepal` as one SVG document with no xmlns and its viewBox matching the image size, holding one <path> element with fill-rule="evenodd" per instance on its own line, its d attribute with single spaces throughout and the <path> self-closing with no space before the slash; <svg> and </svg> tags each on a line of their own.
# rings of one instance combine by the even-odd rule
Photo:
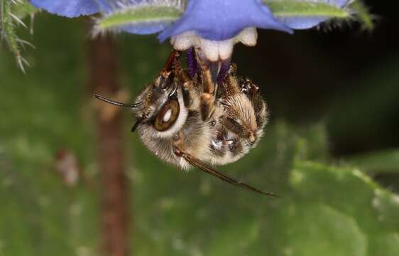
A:
<svg viewBox="0 0 399 256">
<path fill-rule="evenodd" d="M 348 4 L 350 0 L 319 0 L 318 2 L 324 2 L 325 4 L 330 4 L 337 6 L 339 8 L 343 8 Z M 307 29 L 313 28 L 319 23 L 327 21 L 329 17 L 319 17 L 319 16 L 312 16 L 312 17 L 290 17 L 290 18 L 277 18 L 278 21 L 284 23 L 285 25 L 289 26 L 293 29 Z"/>
</svg>

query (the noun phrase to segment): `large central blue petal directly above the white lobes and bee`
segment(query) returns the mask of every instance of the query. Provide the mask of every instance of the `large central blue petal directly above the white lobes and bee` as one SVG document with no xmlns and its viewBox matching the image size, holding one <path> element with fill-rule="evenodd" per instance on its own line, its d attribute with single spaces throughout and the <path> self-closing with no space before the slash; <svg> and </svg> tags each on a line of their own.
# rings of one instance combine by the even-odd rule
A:
<svg viewBox="0 0 399 256">
<path fill-rule="evenodd" d="M 293 32 L 278 22 L 261 0 L 190 0 L 182 18 L 158 38 L 162 42 L 185 31 L 196 31 L 202 38 L 222 41 L 247 27 Z"/>
</svg>

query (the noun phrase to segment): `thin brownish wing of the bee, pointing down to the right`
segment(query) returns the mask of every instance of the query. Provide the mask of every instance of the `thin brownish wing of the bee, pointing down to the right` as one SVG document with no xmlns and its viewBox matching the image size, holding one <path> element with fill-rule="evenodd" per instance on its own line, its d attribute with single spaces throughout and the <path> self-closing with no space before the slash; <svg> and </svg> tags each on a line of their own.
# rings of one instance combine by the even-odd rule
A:
<svg viewBox="0 0 399 256">
<path fill-rule="evenodd" d="M 263 195 L 266 196 L 273 196 L 273 197 L 278 197 L 273 193 L 269 193 L 269 192 L 265 192 L 265 191 L 261 191 L 258 188 L 255 188 L 253 186 L 250 186 L 244 182 L 241 181 L 236 181 L 234 178 L 230 178 L 229 176 L 226 176 L 226 174 L 222 174 L 220 171 L 217 171 L 215 169 L 213 169 L 210 166 L 207 166 L 207 164 L 205 164 L 204 162 L 200 161 L 199 159 L 195 159 L 194 157 L 188 155 L 188 154 L 182 154 L 182 157 L 188 161 L 192 166 L 197 167 L 198 169 L 201 169 L 202 171 L 206 172 L 207 174 L 210 174 L 212 176 L 215 176 L 217 178 L 219 178 L 220 180 L 226 182 L 226 183 L 230 183 L 231 185 L 234 186 L 238 186 L 241 188 L 246 188 L 250 191 L 256 192 L 256 193 L 261 193 Z"/>
</svg>

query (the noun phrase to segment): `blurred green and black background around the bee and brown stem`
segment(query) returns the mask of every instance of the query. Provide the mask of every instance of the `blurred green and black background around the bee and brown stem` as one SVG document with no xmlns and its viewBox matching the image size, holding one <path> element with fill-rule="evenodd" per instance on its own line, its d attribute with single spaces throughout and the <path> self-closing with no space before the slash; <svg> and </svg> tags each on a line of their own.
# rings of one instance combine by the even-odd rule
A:
<svg viewBox="0 0 399 256">
<path fill-rule="evenodd" d="M 399 6 L 366 2 L 378 14 L 372 33 L 354 23 L 260 31 L 255 48 L 236 46 L 271 119 L 251 154 L 219 169 L 280 198 L 163 164 L 124 112 L 131 255 L 399 255 Z M 38 14 L 33 36 L 20 32 L 35 45 L 25 75 L 1 49 L 0 255 L 101 251 L 88 23 Z M 133 98 L 170 46 L 126 34 L 116 43 Z M 56 174 L 60 149 L 77 158 L 77 186 Z"/>
</svg>

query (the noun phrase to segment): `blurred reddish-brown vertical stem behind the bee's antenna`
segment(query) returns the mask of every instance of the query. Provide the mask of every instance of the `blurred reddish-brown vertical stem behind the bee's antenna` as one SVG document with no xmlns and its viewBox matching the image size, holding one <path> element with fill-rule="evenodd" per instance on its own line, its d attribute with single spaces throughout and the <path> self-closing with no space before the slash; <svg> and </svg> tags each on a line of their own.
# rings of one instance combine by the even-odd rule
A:
<svg viewBox="0 0 399 256">
<path fill-rule="evenodd" d="M 114 95 L 120 90 L 115 43 L 109 36 L 89 41 L 89 91 Z M 116 112 L 109 119 L 97 114 L 97 156 L 102 180 L 102 245 L 104 255 L 128 252 L 128 188 L 124 171 L 123 118 Z"/>
</svg>

